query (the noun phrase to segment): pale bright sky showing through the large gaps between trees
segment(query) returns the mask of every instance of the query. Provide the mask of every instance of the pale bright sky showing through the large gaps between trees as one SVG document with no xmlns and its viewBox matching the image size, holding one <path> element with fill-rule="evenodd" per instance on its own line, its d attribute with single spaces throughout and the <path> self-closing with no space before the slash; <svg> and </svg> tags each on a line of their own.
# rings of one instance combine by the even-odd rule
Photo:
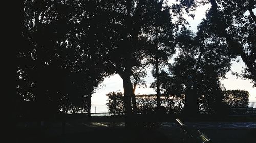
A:
<svg viewBox="0 0 256 143">
<path fill-rule="evenodd" d="M 195 10 L 195 18 L 192 19 L 191 17 L 185 16 L 185 18 L 188 20 L 191 30 L 196 32 L 197 25 L 201 22 L 202 18 L 205 18 L 205 10 L 207 10 L 210 6 L 205 5 L 202 7 L 199 7 Z M 254 9 L 253 12 L 256 10 Z M 239 59 L 239 63 L 236 61 L 232 62 L 231 71 L 241 73 L 242 67 L 245 66 L 243 60 L 238 57 L 236 60 Z M 135 94 L 155 94 L 156 92 L 154 89 L 149 88 L 150 84 L 155 80 L 151 73 L 149 72 L 150 69 L 148 69 L 148 77 L 145 78 L 147 88 L 136 88 Z M 236 76 L 231 74 L 231 71 L 226 74 L 226 78 L 224 80 L 220 80 L 220 82 L 224 85 L 224 87 L 227 90 L 246 90 L 249 92 L 249 102 L 256 102 L 256 88 L 252 87 L 251 80 L 241 80 L 240 78 L 237 78 Z M 115 74 L 111 77 L 105 78 L 103 83 L 101 84 L 103 87 L 100 89 L 97 89 L 95 93 L 92 95 L 92 113 L 99 113 L 99 112 L 108 112 L 106 103 L 108 100 L 108 97 L 106 97 L 106 94 L 113 91 L 120 91 L 123 92 L 123 81 L 122 78 Z M 96 108 L 95 108 L 96 107 Z"/>
</svg>

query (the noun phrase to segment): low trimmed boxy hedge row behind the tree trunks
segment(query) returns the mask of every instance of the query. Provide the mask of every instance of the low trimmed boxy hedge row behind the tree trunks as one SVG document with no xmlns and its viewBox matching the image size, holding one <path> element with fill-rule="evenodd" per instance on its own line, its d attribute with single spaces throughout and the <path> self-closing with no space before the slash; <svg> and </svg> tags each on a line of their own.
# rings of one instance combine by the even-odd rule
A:
<svg viewBox="0 0 256 143">
<path fill-rule="evenodd" d="M 199 111 L 202 114 L 216 114 L 216 107 L 221 106 L 221 110 L 225 111 L 228 108 L 244 108 L 248 106 L 249 92 L 244 90 L 223 90 L 219 93 L 220 95 L 213 96 L 201 96 L 199 98 Z M 123 93 L 121 92 L 110 92 L 108 96 L 108 109 L 113 115 L 124 112 L 123 104 Z M 217 96 L 221 96 L 220 103 L 213 104 L 211 100 Z M 136 102 L 138 112 L 142 114 L 153 113 L 157 105 L 157 95 L 136 95 Z M 175 95 L 164 95 L 160 96 L 160 105 L 166 108 L 168 114 L 179 114 L 183 113 L 185 105 L 184 94 L 180 96 Z M 218 110 L 217 110 L 218 111 Z"/>
</svg>

